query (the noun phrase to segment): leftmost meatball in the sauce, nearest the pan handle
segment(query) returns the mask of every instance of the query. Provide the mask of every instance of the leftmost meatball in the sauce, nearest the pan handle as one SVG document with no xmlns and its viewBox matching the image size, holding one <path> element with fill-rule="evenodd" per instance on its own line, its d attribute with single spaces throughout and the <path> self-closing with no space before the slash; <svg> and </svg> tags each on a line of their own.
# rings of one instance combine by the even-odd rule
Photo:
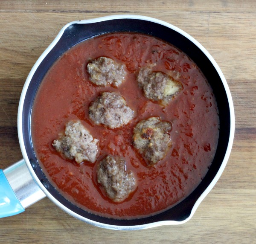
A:
<svg viewBox="0 0 256 244">
<path fill-rule="evenodd" d="M 80 121 L 70 121 L 67 123 L 64 134 L 60 134 L 52 145 L 67 159 L 77 163 L 84 160 L 94 163 L 98 153 L 98 139 L 92 137 Z"/>
</svg>

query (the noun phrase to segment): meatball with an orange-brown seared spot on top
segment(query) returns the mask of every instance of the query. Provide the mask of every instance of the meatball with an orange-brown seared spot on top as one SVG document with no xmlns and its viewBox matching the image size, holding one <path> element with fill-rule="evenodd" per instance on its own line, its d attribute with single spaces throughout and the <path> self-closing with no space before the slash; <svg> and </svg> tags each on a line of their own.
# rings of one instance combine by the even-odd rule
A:
<svg viewBox="0 0 256 244">
<path fill-rule="evenodd" d="M 149 166 L 162 160 L 171 146 L 168 132 L 172 129 L 170 122 L 151 117 L 140 121 L 134 128 L 133 145 L 144 157 Z"/>
</svg>

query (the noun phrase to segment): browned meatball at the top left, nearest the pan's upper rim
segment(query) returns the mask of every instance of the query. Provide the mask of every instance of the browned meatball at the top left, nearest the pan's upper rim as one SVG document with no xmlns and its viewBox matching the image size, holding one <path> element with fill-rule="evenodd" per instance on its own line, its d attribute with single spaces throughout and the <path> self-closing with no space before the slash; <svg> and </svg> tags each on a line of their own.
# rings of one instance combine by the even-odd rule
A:
<svg viewBox="0 0 256 244">
<path fill-rule="evenodd" d="M 125 70 L 122 64 L 113 61 L 112 58 L 99 57 L 87 64 L 87 72 L 90 81 L 98 86 L 112 84 L 118 87 L 125 79 Z"/>
</svg>

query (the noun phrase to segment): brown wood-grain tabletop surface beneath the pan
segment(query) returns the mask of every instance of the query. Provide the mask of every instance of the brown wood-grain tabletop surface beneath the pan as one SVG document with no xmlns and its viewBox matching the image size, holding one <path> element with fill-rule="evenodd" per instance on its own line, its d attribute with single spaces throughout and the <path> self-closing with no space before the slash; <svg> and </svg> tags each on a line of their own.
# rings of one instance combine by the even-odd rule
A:
<svg viewBox="0 0 256 244">
<path fill-rule="evenodd" d="M 0 243 L 256 243 L 256 2 L 254 0 L 0 1 L 0 168 L 21 159 L 17 109 L 26 76 L 60 29 L 105 15 L 155 17 L 183 29 L 215 58 L 236 113 L 220 180 L 186 224 L 134 232 L 76 220 L 49 199 L 0 219 Z"/>
</svg>

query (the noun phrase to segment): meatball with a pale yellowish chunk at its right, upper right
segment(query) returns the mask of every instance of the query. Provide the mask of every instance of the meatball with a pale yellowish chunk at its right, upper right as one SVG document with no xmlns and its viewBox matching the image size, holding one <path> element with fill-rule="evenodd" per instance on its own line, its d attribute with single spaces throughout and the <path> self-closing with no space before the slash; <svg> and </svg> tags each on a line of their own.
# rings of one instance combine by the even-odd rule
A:
<svg viewBox="0 0 256 244">
<path fill-rule="evenodd" d="M 141 68 L 137 82 L 147 99 L 166 105 L 183 87 L 166 73 L 152 71 L 152 67 Z"/>
</svg>

